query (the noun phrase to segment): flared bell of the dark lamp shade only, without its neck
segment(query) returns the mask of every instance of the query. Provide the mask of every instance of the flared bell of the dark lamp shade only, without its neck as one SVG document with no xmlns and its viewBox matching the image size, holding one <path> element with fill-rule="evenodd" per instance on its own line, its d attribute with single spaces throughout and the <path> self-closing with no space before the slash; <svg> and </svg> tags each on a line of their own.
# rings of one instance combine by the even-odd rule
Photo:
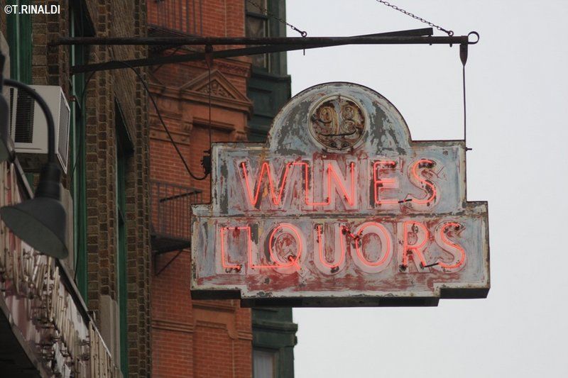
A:
<svg viewBox="0 0 568 378">
<path fill-rule="evenodd" d="M 18 238 L 35 250 L 58 259 L 67 257 L 67 215 L 57 199 L 35 197 L 21 204 L 4 206 L 0 217 Z"/>
</svg>

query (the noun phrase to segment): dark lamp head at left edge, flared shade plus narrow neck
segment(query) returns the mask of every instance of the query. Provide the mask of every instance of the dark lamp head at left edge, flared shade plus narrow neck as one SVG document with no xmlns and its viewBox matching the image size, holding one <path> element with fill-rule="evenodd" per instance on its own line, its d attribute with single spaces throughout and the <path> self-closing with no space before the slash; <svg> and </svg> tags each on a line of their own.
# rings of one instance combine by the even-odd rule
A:
<svg viewBox="0 0 568 378">
<path fill-rule="evenodd" d="M 67 213 L 61 204 L 60 170 L 48 162 L 40 174 L 35 197 L 0 209 L 0 218 L 12 232 L 35 250 L 64 259 Z"/>
</svg>

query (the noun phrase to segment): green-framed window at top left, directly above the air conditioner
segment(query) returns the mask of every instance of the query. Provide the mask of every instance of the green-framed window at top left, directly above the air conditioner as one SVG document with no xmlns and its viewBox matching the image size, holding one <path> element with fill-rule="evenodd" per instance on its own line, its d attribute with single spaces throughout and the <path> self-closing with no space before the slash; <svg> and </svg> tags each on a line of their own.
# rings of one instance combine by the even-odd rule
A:
<svg viewBox="0 0 568 378">
<path fill-rule="evenodd" d="M 30 0 L 9 0 L 11 5 L 30 4 Z M 29 14 L 6 15 L 10 46 L 10 77 L 31 84 L 31 18 Z"/>
</svg>

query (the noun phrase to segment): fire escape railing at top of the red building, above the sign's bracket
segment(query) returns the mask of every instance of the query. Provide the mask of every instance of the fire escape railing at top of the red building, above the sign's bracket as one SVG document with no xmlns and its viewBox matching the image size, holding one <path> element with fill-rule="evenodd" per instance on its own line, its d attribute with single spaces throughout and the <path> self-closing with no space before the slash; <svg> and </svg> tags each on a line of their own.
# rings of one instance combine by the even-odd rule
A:
<svg viewBox="0 0 568 378">
<path fill-rule="evenodd" d="M 148 25 L 203 35 L 202 9 L 202 0 L 151 0 L 148 1 Z"/>
</svg>

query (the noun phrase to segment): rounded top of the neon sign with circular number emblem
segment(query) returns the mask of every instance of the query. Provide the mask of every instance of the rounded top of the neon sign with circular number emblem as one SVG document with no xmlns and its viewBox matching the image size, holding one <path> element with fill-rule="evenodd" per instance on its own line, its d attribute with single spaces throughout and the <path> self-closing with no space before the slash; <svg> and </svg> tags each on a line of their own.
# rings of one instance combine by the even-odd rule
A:
<svg viewBox="0 0 568 378">
<path fill-rule="evenodd" d="M 410 150 L 408 126 L 391 101 L 359 84 L 331 82 L 305 89 L 285 104 L 268 134 L 280 154 Z"/>
</svg>

